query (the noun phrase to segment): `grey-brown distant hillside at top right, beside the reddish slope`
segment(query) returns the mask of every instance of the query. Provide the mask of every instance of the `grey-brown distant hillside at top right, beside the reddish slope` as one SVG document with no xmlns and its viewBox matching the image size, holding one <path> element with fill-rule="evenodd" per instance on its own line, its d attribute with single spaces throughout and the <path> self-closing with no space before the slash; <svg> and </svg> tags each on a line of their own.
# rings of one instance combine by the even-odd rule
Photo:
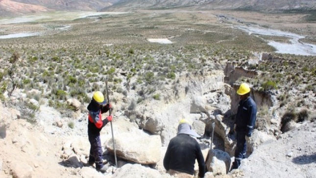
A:
<svg viewBox="0 0 316 178">
<path fill-rule="evenodd" d="M 119 0 L 105 9 L 170 9 L 192 7 L 196 9 L 240 9 L 275 11 L 290 9 L 316 9 L 316 0 Z"/>
</svg>

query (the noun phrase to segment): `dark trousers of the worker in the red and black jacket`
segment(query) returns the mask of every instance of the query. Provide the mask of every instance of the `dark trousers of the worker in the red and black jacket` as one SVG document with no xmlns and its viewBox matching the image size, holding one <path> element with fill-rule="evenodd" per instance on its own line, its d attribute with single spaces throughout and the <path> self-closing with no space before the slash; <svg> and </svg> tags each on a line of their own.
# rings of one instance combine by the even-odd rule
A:
<svg viewBox="0 0 316 178">
<path fill-rule="evenodd" d="M 100 135 L 89 134 L 89 142 L 90 142 L 90 155 L 89 155 L 89 163 L 96 163 L 96 169 L 101 169 L 103 167 L 103 159 L 102 159 L 102 147 L 100 141 Z"/>
</svg>

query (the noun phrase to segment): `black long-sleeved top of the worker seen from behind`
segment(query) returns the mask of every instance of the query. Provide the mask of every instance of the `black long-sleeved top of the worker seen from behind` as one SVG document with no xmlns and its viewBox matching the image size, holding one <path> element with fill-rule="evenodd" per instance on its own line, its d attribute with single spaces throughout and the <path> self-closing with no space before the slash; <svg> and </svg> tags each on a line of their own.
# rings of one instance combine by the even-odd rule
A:
<svg viewBox="0 0 316 178">
<path fill-rule="evenodd" d="M 178 134 L 170 140 L 164 158 L 164 167 L 168 171 L 184 172 L 193 175 L 195 159 L 198 162 L 200 178 L 205 174 L 205 162 L 197 141 L 187 134 Z"/>
</svg>

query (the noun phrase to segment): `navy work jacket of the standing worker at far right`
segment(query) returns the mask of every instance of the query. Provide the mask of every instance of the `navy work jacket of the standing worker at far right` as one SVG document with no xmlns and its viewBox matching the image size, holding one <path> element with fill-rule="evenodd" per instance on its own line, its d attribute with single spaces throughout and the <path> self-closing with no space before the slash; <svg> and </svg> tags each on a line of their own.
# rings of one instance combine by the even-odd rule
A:
<svg viewBox="0 0 316 178">
<path fill-rule="evenodd" d="M 235 124 L 236 132 L 243 132 L 248 137 L 251 136 L 252 130 L 255 127 L 257 114 L 257 105 L 249 96 L 241 100 L 238 105 Z"/>
</svg>

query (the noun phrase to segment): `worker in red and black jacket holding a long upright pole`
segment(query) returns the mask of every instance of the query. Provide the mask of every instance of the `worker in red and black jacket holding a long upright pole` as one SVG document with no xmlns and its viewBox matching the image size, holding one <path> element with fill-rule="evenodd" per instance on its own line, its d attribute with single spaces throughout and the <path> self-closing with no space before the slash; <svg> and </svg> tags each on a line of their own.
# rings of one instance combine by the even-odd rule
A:
<svg viewBox="0 0 316 178">
<path fill-rule="evenodd" d="M 91 145 L 88 163 L 91 166 L 96 163 L 97 171 L 102 173 L 105 173 L 107 167 L 103 166 L 100 131 L 108 122 L 112 121 L 112 116 L 107 116 L 106 119 L 102 120 L 101 114 L 111 108 L 110 103 L 105 104 L 106 101 L 103 94 L 97 91 L 93 94 L 92 100 L 87 107 L 89 111 L 88 137 Z"/>
</svg>

